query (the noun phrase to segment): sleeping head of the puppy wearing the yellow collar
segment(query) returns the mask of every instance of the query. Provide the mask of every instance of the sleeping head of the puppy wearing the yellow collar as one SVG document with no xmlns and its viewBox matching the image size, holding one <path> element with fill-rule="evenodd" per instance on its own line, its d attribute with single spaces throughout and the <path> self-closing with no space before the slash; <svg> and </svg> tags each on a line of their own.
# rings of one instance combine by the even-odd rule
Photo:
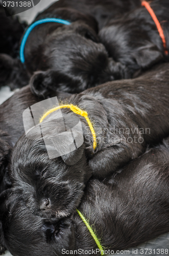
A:
<svg viewBox="0 0 169 256">
<path fill-rule="evenodd" d="M 23 135 L 16 143 L 10 176 L 31 212 L 47 218 L 63 218 L 79 205 L 91 170 L 86 163 L 83 144 L 69 154 L 49 158 L 44 141 L 48 136 L 55 140 L 59 123 L 44 123 L 43 139 L 38 138 L 38 128 L 35 127 L 32 137 Z M 66 140 L 61 141 L 63 147 L 68 145 Z"/>
</svg>

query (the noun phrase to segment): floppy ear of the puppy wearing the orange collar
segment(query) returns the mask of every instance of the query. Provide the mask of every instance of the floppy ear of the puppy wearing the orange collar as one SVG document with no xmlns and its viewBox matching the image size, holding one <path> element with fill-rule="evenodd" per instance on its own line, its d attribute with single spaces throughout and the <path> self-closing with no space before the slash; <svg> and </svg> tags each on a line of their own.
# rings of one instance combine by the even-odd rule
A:
<svg viewBox="0 0 169 256">
<path fill-rule="evenodd" d="M 134 53 L 134 57 L 142 69 L 148 69 L 163 59 L 162 53 L 154 44 L 149 44 L 146 47 L 140 47 L 139 51 Z"/>
</svg>

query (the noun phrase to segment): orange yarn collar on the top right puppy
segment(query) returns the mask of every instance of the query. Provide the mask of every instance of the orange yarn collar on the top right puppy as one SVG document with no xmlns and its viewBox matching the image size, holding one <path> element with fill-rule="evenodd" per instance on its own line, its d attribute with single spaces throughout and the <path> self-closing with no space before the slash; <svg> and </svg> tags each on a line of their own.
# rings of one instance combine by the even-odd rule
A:
<svg viewBox="0 0 169 256">
<path fill-rule="evenodd" d="M 150 15 L 152 16 L 152 19 L 154 20 L 154 23 L 156 24 L 157 26 L 157 29 L 158 29 L 158 33 L 161 37 L 161 40 L 163 42 L 163 48 L 164 48 L 164 53 L 167 55 L 168 54 L 168 51 L 166 49 L 166 41 L 165 41 L 165 36 L 164 36 L 164 33 L 163 33 L 163 30 L 161 28 L 161 25 L 153 11 L 153 9 L 150 7 L 150 4 L 147 2 L 147 1 L 142 1 L 141 3 L 142 6 L 146 7 L 146 9 L 148 10 L 148 12 L 150 13 Z"/>
</svg>

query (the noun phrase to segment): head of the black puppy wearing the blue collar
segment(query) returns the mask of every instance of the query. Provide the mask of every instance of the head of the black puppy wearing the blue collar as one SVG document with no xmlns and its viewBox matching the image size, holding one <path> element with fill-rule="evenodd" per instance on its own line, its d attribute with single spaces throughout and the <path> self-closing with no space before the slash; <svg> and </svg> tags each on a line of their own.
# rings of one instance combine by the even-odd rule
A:
<svg viewBox="0 0 169 256">
<path fill-rule="evenodd" d="M 38 91 L 44 95 L 56 89 L 79 93 L 106 81 L 127 78 L 127 68 L 110 59 L 94 30 L 80 22 L 57 28 L 36 48 L 26 49 L 25 58 L 30 73 L 42 71 L 31 80 L 37 95 Z"/>
</svg>

